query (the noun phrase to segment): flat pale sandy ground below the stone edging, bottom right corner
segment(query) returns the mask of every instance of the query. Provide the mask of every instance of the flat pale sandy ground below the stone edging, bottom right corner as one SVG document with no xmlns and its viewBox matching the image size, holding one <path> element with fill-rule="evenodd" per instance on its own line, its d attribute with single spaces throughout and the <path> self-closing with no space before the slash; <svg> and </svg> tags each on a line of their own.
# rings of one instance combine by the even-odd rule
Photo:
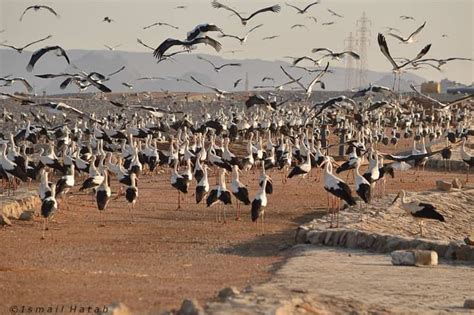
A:
<svg viewBox="0 0 474 315">
<path fill-rule="evenodd" d="M 323 301 L 328 297 L 363 301 L 366 309 L 379 312 L 469 313 L 463 304 L 465 299 L 474 297 L 472 265 L 394 267 L 390 261 L 390 255 L 298 246 L 298 254 L 257 291 L 289 288 L 293 292 L 315 293 Z"/>
</svg>

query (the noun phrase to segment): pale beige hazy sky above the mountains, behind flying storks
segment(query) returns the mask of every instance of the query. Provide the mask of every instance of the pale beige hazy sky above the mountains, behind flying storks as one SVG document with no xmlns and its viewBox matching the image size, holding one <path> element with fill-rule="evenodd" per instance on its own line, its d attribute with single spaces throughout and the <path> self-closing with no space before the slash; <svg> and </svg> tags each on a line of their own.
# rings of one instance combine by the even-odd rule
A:
<svg viewBox="0 0 474 315">
<path fill-rule="evenodd" d="M 218 39 L 223 44 L 221 55 L 229 58 L 260 58 L 267 60 L 283 59 L 283 56 L 310 55 L 314 47 L 328 47 L 336 51 L 343 50 L 344 39 L 350 32 L 356 33 L 356 21 L 366 12 L 371 20 L 370 47 L 368 63 L 372 70 L 389 71 L 391 65 L 381 54 L 376 37 L 377 33 L 391 26 L 400 29 L 408 36 L 424 21 L 425 29 L 419 34 L 418 42 L 405 45 L 395 38 L 387 37 L 392 56 L 413 57 L 426 44 L 432 43 L 427 57 L 469 57 L 474 52 L 474 0 L 321 0 L 318 5 L 309 9 L 305 15 L 285 5 L 281 0 L 220 0 L 220 2 L 236 8 L 239 12 L 250 14 L 265 6 L 280 4 L 282 10 L 278 14 L 264 13 L 252 19 L 244 27 L 237 17 L 230 12 L 211 7 L 206 0 L 60 0 L 60 1 L 26 1 L 0 0 L 0 42 L 7 40 L 9 44 L 22 46 L 30 41 L 53 35 L 47 42 L 37 44 L 35 50 L 42 45 L 57 44 L 67 49 L 104 49 L 103 44 L 122 44 L 120 50 L 147 51 L 136 43 L 141 38 L 145 43 L 155 47 L 168 37 L 183 39 L 186 32 L 195 25 L 212 22 L 220 26 L 226 33 L 243 36 L 246 30 L 263 23 L 264 26 L 252 33 L 248 41 L 241 46 L 233 39 Z M 287 0 L 287 2 L 304 7 L 312 0 Z M 33 4 L 52 6 L 61 17 L 58 19 L 46 11 L 26 13 L 23 21 L 19 17 L 23 10 Z M 175 9 L 178 5 L 186 9 Z M 344 16 L 331 16 L 327 11 Z M 415 17 L 415 21 L 403 21 L 400 15 Z M 102 22 L 109 16 L 114 22 Z M 315 23 L 306 16 L 318 19 Z M 154 22 L 167 22 L 179 26 L 179 30 L 168 27 L 154 27 L 143 30 L 142 27 Z M 331 26 L 322 26 L 323 22 L 335 22 Z M 294 24 L 305 24 L 304 28 L 290 29 Z M 448 37 L 443 38 L 446 34 Z M 265 36 L 280 35 L 279 38 L 262 41 Z M 212 35 L 211 35 L 212 36 Z M 217 34 L 213 35 L 217 38 Z M 229 50 L 243 49 L 243 52 L 230 55 Z M 354 49 L 357 52 L 357 48 Z M 199 46 L 199 52 L 215 52 L 210 47 Z M 343 61 L 338 62 L 343 66 Z M 153 66 L 153 65 L 150 65 Z M 176 65 L 179 67 L 179 64 Z M 0 69 L 1 73 L 1 69 Z M 429 79 L 439 80 L 444 77 L 466 84 L 474 81 L 474 63 L 456 61 L 445 66 L 444 73 L 435 69 L 421 70 L 416 73 Z"/>
</svg>

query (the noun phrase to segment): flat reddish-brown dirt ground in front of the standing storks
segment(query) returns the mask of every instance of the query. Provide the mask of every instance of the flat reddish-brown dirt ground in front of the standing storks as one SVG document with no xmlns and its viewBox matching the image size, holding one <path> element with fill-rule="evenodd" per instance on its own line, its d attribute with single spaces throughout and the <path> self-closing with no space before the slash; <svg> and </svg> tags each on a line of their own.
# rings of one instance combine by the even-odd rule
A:
<svg viewBox="0 0 474 315">
<path fill-rule="evenodd" d="M 315 176 L 281 182 L 271 173 L 274 193 L 266 210 L 266 233 L 257 235 L 250 207 L 242 219 L 228 208 L 226 224 L 215 208 L 195 205 L 194 184 L 176 209 L 169 173 L 142 177 L 134 221 L 123 197 L 105 211 L 105 227 L 93 195 L 74 190 L 46 240 L 41 224 L 15 221 L 0 229 L 0 313 L 11 305 L 108 305 L 123 302 L 147 313 L 178 307 L 183 298 L 206 302 L 226 286 L 243 288 L 268 280 L 293 245 L 298 225 L 325 213 L 326 193 Z M 242 177 L 255 196 L 257 174 Z M 426 171 L 418 179 L 387 181 L 387 191 L 433 189 L 437 179 L 462 174 Z M 344 178 L 344 177 L 343 177 Z M 214 178 L 210 180 L 211 185 Z M 118 191 L 116 185 L 113 192 Z"/>
</svg>

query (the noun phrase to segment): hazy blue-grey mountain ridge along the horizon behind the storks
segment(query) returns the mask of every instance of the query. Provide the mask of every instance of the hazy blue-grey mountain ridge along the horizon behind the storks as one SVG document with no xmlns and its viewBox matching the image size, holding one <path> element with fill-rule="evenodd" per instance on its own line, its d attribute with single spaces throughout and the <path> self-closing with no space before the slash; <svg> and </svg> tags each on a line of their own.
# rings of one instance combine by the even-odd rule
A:
<svg viewBox="0 0 474 315">
<path fill-rule="evenodd" d="M 243 91 L 245 90 L 245 78 L 248 74 L 249 89 L 253 90 L 256 85 L 277 85 L 288 81 L 288 78 L 280 70 L 280 65 L 287 68 L 288 71 L 294 74 L 295 77 L 302 76 L 302 83 L 307 84 L 312 78 L 313 74 L 307 73 L 304 70 L 291 68 L 291 64 L 285 61 L 269 61 L 260 59 L 238 59 L 238 58 L 224 58 L 223 56 L 213 56 L 206 54 L 197 54 L 195 52 L 187 54 L 183 53 L 175 56 L 176 62 L 163 61 L 159 64 L 153 58 L 152 53 L 144 52 L 127 52 L 127 51 L 107 51 L 107 50 L 69 50 L 69 58 L 71 64 L 74 64 L 79 69 L 84 71 L 97 71 L 102 74 L 109 74 L 125 66 L 125 70 L 113 76 L 110 81 L 105 84 L 114 92 L 130 92 L 129 88 L 122 85 L 122 82 L 133 85 L 133 91 L 159 91 L 170 90 L 176 92 L 190 91 L 190 92 L 209 92 L 209 90 L 196 85 L 194 82 L 183 82 L 177 80 L 140 80 L 139 77 L 163 77 L 163 78 L 179 78 L 189 80 L 189 76 L 193 75 L 203 83 L 216 86 L 226 91 Z M 228 67 L 216 73 L 214 69 L 205 61 L 196 58 L 200 55 L 206 59 L 211 60 L 217 65 L 228 62 L 241 63 L 241 67 Z M 38 61 L 33 72 L 26 71 L 26 64 L 31 56 L 31 52 L 25 51 L 18 54 L 13 50 L 0 49 L 0 76 L 13 74 L 26 78 L 35 88 L 35 92 L 41 94 L 46 91 L 47 94 L 63 94 L 63 93 L 77 93 L 78 89 L 75 85 L 68 86 L 65 90 L 59 88 L 60 82 L 63 78 L 58 79 L 40 79 L 34 74 L 44 73 L 73 73 L 77 70 L 71 65 L 67 65 L 63 58 L 58 58 L 54 54 L 46 54 Z M 338 63 L 340 64 L 340 63 Z M 345 69 L 334 66 L 332 62 L 331 70 L 333 73 L 328 73 L 323 81 L 326 83 L 326 90 L 328 91 L 342 91 L 345 89 Z M 263 77 L 273 77 L 274 82 L 262 82 Z M 368 71 L 367 78 L 369 82 L 392 87 L 393 75 L 389 72 Z M 238 79 L 242 79 L 240 84 L 234 89 L 233 84 Z M 426 79 L 414 75 L 404 74 L 402 77 L 401 90 L 408 91 L 409 83 L 420 84 Z M 317 87 L 319 89 L 319 87 Z M 14 92 L 23 91 L 21 85 L 2 88 L 2 91 Z M 88 92 L 94 92 L 94 88 L 89 88 Z"/>
</svg>

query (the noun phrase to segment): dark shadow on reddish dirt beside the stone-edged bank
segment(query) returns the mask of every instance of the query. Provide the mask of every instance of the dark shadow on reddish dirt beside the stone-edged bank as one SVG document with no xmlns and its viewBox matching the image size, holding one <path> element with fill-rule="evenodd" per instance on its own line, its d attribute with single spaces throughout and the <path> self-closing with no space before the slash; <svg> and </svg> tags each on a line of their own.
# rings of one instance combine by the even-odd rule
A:
<svg viewBox="0 0 474 315">
<path fill-rule="evenodd" d="M 227 255 L 237 255 L 242 257 L 271 257 L 285 255 L 289 249 L 296 244 L 295 235 L 299 225 L 309 222 L 312 219 L 319 218 L 325 214 L 325 210 L 314 209 L 303 215 L 292 219 L 295 223 L 294 228 L 278 232 L 266 231 L 261 234 L 255 224 L 255 237 L 251 240 L 233 244 L 218 249 L 218 253 Z"/>
</svg>

